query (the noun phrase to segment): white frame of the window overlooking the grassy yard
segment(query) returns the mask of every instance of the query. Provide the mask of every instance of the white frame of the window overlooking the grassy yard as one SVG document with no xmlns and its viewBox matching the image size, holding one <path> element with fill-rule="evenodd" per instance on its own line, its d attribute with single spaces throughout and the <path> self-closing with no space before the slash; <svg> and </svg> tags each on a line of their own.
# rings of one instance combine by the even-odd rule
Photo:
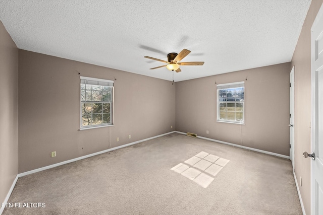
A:
<svg viewBox="0 0 323 215">
<path fill-rule="evenodd" d="M 220 88 L 219 88 L 220 87 Z M 224 89 L 233 89 L 233 88 L 242 88 L 243 87 L 243 101 L 225 101 L 225 102 L 220 102 L 220 90 Z M 243 119 L 242 121 L 238 120 L 228 120 L 228 119 L 220 119 L 220 104 L 221 103 L 234 103 L 235 108 L 236 104 L 243 104 Z M 228 111 L 226 111 L 228 112 Z M 236 119 L 236 113 L 239 111 L 229 111 L 229 112 L 234 112 L 235 113 L 235 119 Z M 233 83 L 226 83 L 226 84 L 217 84 L 217 122 L 225 122 L 225 123 L 234 123 L 234 124 L 245 124 L 245 86 L 244 86 L 244 81 L 243 82 L 233 82 Z"/>
</svg>

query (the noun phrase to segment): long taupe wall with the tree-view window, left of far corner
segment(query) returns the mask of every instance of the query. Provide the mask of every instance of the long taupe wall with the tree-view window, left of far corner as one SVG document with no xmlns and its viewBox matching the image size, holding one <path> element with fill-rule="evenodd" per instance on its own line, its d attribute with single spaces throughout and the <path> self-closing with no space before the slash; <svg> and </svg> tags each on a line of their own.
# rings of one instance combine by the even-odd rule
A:
<svg viewBox="0 0 323 215">
<path fill-rule="evenodd" d="M 78 130 L 79 73 L 116 79 L 115 126 Z M 173 130 L 172 82 L 19 50 L 19 173 Z"/>
</svg>

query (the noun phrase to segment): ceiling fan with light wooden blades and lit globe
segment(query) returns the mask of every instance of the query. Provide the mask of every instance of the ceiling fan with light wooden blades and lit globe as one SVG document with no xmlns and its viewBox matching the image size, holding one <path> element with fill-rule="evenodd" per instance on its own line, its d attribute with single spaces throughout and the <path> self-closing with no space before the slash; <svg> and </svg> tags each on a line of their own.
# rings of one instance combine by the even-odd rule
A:
<svg viewBox="0 0 323 215">
<path fill-rule="evenodd" d="M 177 73 L 179 73 L 180 71 L 182 71 L 180 69 L 180 65 L 203 65 L 204 64 L 204 62 L 201 62 L 201 61 L 197 61 L 197 62 L 180 62 L 189 53 L 191 53 L 191 51 L 190 50 L 187 50 L 185 48 L 179 54 L 178 53 L 174 53 L 174 52 L 169 53 L 167 55 L 168 61 L 166 61 L 166 60 L 160 60 L 160 59 L 157 59 L 157 58 L 154 58 L 154 57 L 148 57 L 148 56 L 144 56 L 144 57 L 145 58 L 152 59 L 152 60 L 158 60 L 158 61 L 167 63 L 166 65 L 161 65 L 161 66 L 153 67 L 153 68 L 150 68 L 150 69 L 161 68 L 161 67 L 165 67 L 166 66 L 169 70 L 172 70 L 172 71 L 175 70 Z"/>
</svg>

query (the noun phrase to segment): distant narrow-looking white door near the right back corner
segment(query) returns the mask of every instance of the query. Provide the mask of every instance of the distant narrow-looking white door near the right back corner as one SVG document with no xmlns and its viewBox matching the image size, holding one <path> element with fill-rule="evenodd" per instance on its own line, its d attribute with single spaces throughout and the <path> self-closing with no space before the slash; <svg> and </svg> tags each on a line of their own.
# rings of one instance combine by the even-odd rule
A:
<svg viewBox="0 0 323 215">
<path fill-rule="evenodd" d="M 289 88 L 289 146 L 290 159 L 294 170 L 294 84 L 295 84 L 295 67 L 293 66 L 289 74 L 290 88 Z M 293 171 L 294 172 L 294 171 Z"/>
</svg>

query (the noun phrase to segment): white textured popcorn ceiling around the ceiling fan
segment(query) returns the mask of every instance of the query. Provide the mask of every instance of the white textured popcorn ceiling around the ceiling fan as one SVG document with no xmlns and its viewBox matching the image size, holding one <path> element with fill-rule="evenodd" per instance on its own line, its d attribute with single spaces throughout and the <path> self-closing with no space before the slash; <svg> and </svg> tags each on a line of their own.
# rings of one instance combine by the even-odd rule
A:
<svg viewBox="0 0 323 215">
<path fill-rule="evenodd" d="M 192 52 L 175 81 L 291 61 L 310 0 L 0 0 L 18 48 L 172 80 L 170 52 Z"/>
</svg>

